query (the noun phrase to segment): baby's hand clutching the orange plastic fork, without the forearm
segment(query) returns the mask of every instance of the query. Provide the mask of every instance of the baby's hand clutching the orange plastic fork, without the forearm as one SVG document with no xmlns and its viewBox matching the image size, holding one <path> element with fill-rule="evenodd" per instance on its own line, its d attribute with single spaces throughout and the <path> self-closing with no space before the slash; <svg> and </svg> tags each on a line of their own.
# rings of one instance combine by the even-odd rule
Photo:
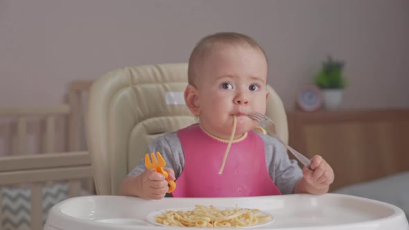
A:
<svg viewBox="0 0 409 230">
<path fill-rule="evenodd" d="M 168 172 L 168 178 L 175 180 L 175 172 L 171 168 L 164 168 Z M 168 181 L 165 176 L 153 169 L 145 170 L 141 174 L 141 197 L 146 200 L 160 200 L 168 191 Z"/>
</svg>

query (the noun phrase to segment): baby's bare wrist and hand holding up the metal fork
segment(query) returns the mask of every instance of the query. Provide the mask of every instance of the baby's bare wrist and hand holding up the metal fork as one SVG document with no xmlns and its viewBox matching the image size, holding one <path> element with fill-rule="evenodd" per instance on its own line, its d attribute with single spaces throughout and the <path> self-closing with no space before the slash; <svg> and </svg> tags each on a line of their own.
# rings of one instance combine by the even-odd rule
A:
<svg viewBox="0 0 409 230">
<path fill-rule="evenodd" d="M 314 156 L 311 169 L 304 167 L 302 175 L 302 179 L 295 184 L 294 193 L 327 193 L 335 177 L 331 166 L 321 156 Z"/>
</svg>

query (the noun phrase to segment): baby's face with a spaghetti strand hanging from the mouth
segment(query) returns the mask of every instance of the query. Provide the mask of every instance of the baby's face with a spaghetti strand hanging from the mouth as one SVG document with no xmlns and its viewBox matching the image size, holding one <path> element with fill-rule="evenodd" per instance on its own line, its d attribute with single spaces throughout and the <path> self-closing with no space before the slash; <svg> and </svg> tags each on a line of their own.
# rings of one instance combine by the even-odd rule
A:
<svg viewBox="0 0 409 230">
<path fill-rule="evenodd" d="M 263 53 L 247 45 L 215 45 L 204 57 L 198 77 L 200 123 L 204 130 L 222 139 L 235 139 L 256 127 L 251 112 L 266 112 L 267 61 Z"/>
</svg>

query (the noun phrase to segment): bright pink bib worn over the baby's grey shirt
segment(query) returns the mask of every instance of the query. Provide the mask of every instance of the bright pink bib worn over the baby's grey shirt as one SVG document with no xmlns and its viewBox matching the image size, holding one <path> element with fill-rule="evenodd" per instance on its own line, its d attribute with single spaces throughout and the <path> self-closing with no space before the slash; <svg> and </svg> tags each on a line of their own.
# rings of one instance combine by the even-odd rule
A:
<svg viewBox="0 0 409 230">
<path fill-rule="evenodd" d="M 177 178 L 173 197 L 248 197 L 281 195 L 268 175 L 264 143 L 248 132 L 232 143 L 225 168 L 222 166 L 227 142 L 206 134 L 198 124 L 177 132 L 184 152 L 184 168 Z"/>
</svg>

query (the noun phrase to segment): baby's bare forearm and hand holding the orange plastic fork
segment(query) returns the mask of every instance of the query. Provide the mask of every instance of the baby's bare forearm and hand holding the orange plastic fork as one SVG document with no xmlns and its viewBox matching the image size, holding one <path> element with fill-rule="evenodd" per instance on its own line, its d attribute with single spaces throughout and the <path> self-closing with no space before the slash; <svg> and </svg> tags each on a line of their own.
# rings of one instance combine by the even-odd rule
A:
<svg viewBox="0 0 409 230">
<path fill-rule="evenodd" d="M 175 172 L 171 168 L 164 168 L 168 177 L 175 180 Z M 165 176 L 153 169 L 145 170 L 139 175 L 126 177 L 119 189 L 120 195 L 136 196 L 146 200 L 160 200 L 168 191 Z"/>
</svg>

